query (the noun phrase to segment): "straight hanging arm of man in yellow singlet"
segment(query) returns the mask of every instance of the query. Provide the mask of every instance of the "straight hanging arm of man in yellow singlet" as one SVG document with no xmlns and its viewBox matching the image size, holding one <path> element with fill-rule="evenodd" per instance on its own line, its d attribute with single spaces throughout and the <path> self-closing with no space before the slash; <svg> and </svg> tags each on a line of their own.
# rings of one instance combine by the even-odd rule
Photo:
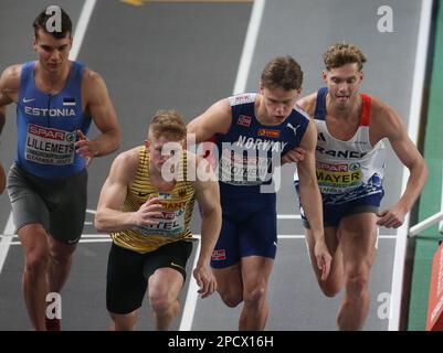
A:
<svg viewBox="0 0 443 353">
<path fill-rule="evenodd" d="M 193 182 L 196 199 L 201 212 L 201 247 L 193 277 L 200 287 L 202 298 L 217 290 L 217 281 L 209 261 L 221 229 L 221 206 L 219 183 L 207 160 L 196 157 L 197 178 Z"/>
</svg>

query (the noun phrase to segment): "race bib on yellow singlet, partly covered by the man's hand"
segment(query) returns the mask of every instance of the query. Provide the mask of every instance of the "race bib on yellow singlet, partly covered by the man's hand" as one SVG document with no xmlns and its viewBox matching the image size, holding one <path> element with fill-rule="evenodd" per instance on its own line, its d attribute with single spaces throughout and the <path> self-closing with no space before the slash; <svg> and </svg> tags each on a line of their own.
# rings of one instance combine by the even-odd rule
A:
<svg viewBox="0 0 443 353">
<path fill-rule="evenodd" d="M 177 238 L 184 232 L 186 208 L 162 211 L 158 224 L 136 226 L 134 229 L 141 236 L 166 236 Z"/>
</svg>

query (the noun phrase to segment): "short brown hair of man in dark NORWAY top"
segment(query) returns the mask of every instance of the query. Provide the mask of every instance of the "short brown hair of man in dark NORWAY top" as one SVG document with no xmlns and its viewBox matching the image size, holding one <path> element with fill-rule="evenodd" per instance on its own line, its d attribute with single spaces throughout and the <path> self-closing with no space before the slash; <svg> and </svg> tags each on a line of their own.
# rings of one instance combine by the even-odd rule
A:
<svg viewBox="0 0 443 353">
<path fill-rule="evenodd" d="M 292 56 L 278 56 L 266 64 L 261 82 L 262 86 L 267 88 L 299 89 L 303 83 L 303 71 Z"/>
</svg>

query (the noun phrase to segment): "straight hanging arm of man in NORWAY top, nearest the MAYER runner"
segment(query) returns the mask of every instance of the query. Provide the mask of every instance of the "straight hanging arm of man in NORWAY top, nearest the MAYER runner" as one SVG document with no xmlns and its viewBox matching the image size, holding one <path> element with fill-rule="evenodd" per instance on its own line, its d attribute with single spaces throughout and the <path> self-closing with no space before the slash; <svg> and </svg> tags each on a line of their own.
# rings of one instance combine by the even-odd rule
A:
<svg viewBox="0 0 443 353">
<path fill-rule="evenodd" d="M 317 258 L 317 266 L 323 270 L 321 279 L 328 277 L 331 256 L 325 242 L 325 231 L 323 227 L 323 204 L 321 195 L 317 184 L 315 173 L 315 147 L 317 143 L 317 129 L 313 120 L 306 129 L 300 141 L 300 147 L 305 150 L 305 158 L 297 163 L 299 193 L 303 208 L 313 231 L 315 247 L 314 253 Z"/>
</svg>

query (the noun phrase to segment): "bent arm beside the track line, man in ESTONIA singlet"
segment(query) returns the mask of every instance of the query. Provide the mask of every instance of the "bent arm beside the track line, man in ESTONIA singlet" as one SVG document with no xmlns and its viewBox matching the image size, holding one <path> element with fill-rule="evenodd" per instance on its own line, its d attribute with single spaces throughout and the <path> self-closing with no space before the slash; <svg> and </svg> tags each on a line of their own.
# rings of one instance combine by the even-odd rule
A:
<svg viewBox="0 0 443 353">
<path fill-rule="evenodd" d="M 103 78 L 91 69 L 85 69 L 82 81 L 82 97 L 85 109 L 102 132 L 96 139 L 87 140 L 80 135 L 75 143 L 78 153 L 85 158 L 105 156 L 114 152 L 120 145 L 120 128 Z"/>
</svg>

